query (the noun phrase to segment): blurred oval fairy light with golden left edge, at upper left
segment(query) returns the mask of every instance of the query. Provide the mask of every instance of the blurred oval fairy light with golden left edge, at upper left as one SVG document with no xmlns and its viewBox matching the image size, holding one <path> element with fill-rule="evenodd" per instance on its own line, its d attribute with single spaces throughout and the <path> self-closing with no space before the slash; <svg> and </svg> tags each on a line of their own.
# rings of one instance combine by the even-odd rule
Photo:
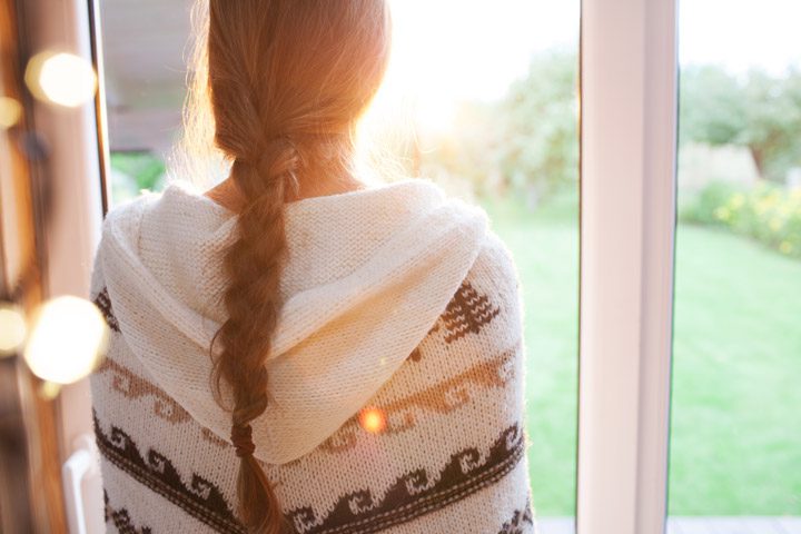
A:
<svg viewBox="0 0 801 534">
<path fill-rule="evenodd" d="M 91 63 L 68 52 L 38 53 L 28 62 L 24 80 L 38 99 L 68 108 L 88 102 L 97 89 Z"/>
</svg>

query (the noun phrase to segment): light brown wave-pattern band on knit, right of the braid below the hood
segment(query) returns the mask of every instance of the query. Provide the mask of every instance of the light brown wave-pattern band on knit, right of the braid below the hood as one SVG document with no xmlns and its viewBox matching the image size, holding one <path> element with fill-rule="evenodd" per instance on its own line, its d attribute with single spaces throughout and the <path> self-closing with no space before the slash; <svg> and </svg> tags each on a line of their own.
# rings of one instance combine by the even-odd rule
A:
<svg viewBox="0 0 801 534">
<path fill-rule="evenodd" d="M 397 434 L 414 428 L 417 424 L 417 411 L 447 414 L 468 403 L 476 387 L 503 387 L 514 375 L 510 363 L 514 359 L 518 345 L 485 362 L 481 362 L 463 373 L 382 406 L 374 406 L 383 414 L 386 426 L 382 434 Z M 360 413 L 353 415 L 328 439 L 320 444 L 323 451 L 340 453 L 354 447 L 362 433 Z"/>
</svg>

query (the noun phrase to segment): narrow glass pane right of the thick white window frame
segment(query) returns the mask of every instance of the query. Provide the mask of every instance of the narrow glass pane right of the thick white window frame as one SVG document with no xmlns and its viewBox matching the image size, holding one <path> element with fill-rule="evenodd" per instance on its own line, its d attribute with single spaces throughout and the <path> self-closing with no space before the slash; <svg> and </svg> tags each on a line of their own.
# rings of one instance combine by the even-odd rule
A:
<svg viewBox="0 0 801 534">
<path fill-rule="evenodd" d="M 801 4 L 680 12 L 670 524 L 800 532 Z"/>
</svg>

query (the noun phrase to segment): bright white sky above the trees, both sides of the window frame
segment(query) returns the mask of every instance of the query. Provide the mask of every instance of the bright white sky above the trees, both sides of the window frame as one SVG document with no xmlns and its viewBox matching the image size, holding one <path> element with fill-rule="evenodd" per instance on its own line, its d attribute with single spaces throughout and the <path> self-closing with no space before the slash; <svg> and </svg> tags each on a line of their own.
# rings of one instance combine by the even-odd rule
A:
<svg viewBox="0 0 801 534">
<path fill-rule="evenodd" d="M 578 0 L 390 0 L 394 52 L 387 91 L 432 123 L 455 100 L 492 100 L 525 75 L 532 53 L 577 48 Z M 801 67 L 801 0 L 683 0 L 682 65 Z"/>
</svg>

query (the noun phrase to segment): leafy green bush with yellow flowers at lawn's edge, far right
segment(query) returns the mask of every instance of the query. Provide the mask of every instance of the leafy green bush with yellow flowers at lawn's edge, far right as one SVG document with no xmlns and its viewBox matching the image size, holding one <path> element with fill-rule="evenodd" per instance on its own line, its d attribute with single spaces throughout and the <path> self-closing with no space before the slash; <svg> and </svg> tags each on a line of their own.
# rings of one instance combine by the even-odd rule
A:
<svg viewBox="0 0 801 534">
<path fill-rule="evenodd" d="M 715 225 L 801 258 L 801 189 L 759 182 L 751 189 L 711 182 L 680 212 L 683 220 Z"/>
</svg>

